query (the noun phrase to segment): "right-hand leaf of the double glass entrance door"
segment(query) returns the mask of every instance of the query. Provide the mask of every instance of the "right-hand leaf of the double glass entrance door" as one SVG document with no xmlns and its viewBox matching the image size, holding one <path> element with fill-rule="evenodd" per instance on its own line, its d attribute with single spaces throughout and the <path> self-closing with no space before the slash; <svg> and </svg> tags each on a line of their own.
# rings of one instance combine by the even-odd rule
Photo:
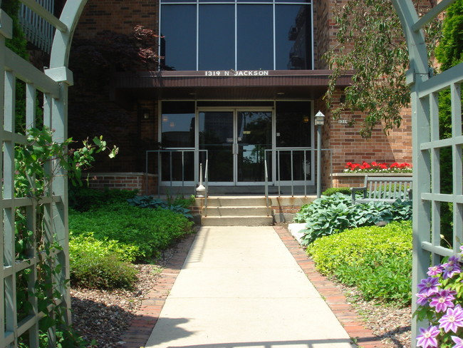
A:
<svg viewBox="0 0 463 348">
<path fill-rule="evenodd" d="M 237 180 L 263 182 L 265 150 L 271 149 L 271 111 L 239 111 L 236 121 Z M 271 163 L 267 163 L 267 168 L 270 172 Z"/>
</svg>

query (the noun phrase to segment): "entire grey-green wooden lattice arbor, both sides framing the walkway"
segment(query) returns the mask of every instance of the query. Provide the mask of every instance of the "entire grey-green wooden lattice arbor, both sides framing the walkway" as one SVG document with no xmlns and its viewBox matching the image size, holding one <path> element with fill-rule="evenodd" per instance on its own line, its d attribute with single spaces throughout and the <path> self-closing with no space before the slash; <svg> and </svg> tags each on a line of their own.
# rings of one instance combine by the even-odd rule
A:
<svg viewBox="0 0 463 348">
<path fill-rule="evenodd" d="M 0 292 L 4 301 L 0 302 L 0 347 L 17 347 L 18 337 L 26 334 L 29 347 L 38 347 L 38 321 L 43 317 L 39 312 L 37 301 L 29 297 L 31 310 L 19 321 L 16 314 L 16 274 L 30 270 L 28 282 L 33 287 L 36 280 L 40 251 L 36 245 L 28 248 L 27 260 L 16 260 L 15 252 L 15 210 L 26 211 L 28 228 L 36 233 L 36 208 L 43 205 L 45 211 L 46 238 L 49 241 L 56 236 L 63 250 L 56 252 L 56 260 L 63 265 L 56 282 L 61 283 L 69 277 L 68 262 L 68 197 L 67 180 L 58 175 L 47 195 L 39 200 L 17 198 L 14 194 L 14 148 L 26 143 L 24 135 L 15 133 L 15 85 L 17 80 L 26 83 L 26 124 L 34 126 L 37 93 L 43 93 L 43 124 L 54 129 L 53 136 L 62 141 L 67 138 L 67 101 L 68 87 L 72 85 L 72 73 L 68 70 L 68 56 L 73 31 L 86 0 L 66 1 L 60 19 L 43 9 L 35 0 L 20 0 L 38 16 L 56 28 L 51 48 L 50 68 L 44 73 L 24 61 L 5 47 L 5 39 L 11 38 L 11 19 L 0 12 L 0 110 L 3 131 L 0 133 L 2 146 L 0 162 L 3 163 L 1 209 L 4 222 L 0 225 L 0 257 L 4 267 L 0 270 Z M 463 184 L 462 184 L 462 101 L 461 83 L 463 81 L 463 64 L 440 73 L 430 75 L 427 64 L 427 51 L 422 27 L 440 12 L 444 11 L 454 0 L 442 0 L 429 14 L 419 18 L 410 0 L 392 0 L 402 21 L 410 51 L 410 70 L 407 79 L 412 88 L 412 129 L 413 129 L 413 289 L 417 282 L 426 275 L 430 263 L 437 263 L 446 255 L 454 255 L 463 240 Z M 1 1 L 0 1 L 1 4 Z M 438 93 L 444 89 L 452 93 L 452 138 L 439 138 Z M 439 151 L 452 148 L 453 191 L 442 194 L 439 188 Z M 444 175 L 444 173 L 442 173 Z M 454 250 L 440 246 L 440 203 L 453 205 L 453 245 Z M 64 294 L 57 299 L 58 305 L 69 308 L 70 297 L 62 287 Z M 414 307 L 415 308 L 415 307 Z M 66 321 L 70 322 L 69 311 Z M 414 336 L 417 322 L 412 324 Z M 53 346 L 53 331 L 50 333 Z M 415 341 L 415 340 L 414 340 Z M 415 342 L 412 342 L 415 344 Z"/>
</svg>

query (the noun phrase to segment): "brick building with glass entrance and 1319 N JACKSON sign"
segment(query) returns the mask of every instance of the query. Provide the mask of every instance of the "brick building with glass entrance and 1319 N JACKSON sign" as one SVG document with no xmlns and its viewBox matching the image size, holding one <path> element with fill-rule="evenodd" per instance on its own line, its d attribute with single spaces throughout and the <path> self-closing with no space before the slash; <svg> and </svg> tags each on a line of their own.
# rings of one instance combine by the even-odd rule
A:
<svg viewBox="0 0 463 348">
<path fill-rule="evenodd" d="M 266 180 L 283 193 L 291 184 L 313 192 L 318 111 L 326 115 L 323 188 L 363 180 L 340 175 L 347 162 L 411 162 L 410 111 L 389 135 L 378 125 L 362 138 L 360 124 L 346 123 L 361 115 L 334 121 L 326 108 L 330 71 L 321 56 L 335 45 L 333 3 L 89 0 L 71 49 L 69 135 L 102 134 L 120 148 L 114 160 L 98 158 L 91 185 L 193 192 L 207 159 L 212 194 L 264 193 Z M 157 66 L 103 75 L 93 61 L 73 67 L 89 42 L 123 42 L 137 25 L 162 35 Z M 93 82 L 79 84 L 85 73 Z M 338 81 L 339 100 L 349 81 Z"/>
</svg>

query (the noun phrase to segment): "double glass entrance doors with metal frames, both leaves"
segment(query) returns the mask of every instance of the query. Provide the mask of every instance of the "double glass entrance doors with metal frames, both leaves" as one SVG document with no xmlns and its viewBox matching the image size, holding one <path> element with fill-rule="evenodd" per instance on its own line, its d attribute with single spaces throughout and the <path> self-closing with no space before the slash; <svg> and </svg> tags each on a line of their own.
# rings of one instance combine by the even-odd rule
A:
<svg viewBox="0 0 463 348">
<path fill-rule="evenodd" d="M 265 150 L 271 149 L 271 111 L 200 111 L 198 129 L 199 150 L 208 151 L 209 183 L 264 183 Z"/>
</svg>

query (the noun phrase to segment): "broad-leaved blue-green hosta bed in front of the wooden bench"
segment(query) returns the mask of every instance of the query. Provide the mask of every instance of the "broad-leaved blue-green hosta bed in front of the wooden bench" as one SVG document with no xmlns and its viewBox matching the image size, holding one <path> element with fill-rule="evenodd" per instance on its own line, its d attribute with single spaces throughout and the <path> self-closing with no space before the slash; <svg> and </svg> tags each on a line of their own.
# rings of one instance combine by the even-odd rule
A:
<svg viewBox="0 0 463 348">
<path fill-rule="evenodd" d="M 318 198 L 310 205 L 304 205 L 294 217 L 294 221 L 306 222 L 302 243 L 309 245 L 318 237 L 333 235 L 348 228 L 411 218 L 410 201 L 396 200 L 392 204 L 384 202 L 352 204 L 348 196 L 335 193 Z"/>
</svg>

